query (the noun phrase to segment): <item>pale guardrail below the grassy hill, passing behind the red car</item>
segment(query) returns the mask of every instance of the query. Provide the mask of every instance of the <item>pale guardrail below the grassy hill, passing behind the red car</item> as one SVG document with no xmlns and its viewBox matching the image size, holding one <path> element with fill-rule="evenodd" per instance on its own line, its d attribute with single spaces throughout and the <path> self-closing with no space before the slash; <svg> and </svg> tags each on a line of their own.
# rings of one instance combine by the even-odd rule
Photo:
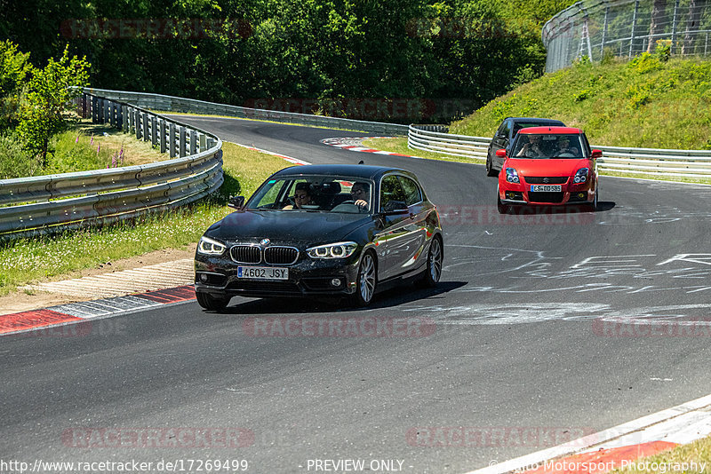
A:
<svg viewBox="0 0 711 474">
<path fill-rule="evenodd" d="M 417 150 L 486 160 L 491 138 L 470 137 L 411 125 L 407 146 Z M 711 178 L 711 150 L 670 150 L 591 145 L 603 152 L 598 170 L 632 175 Z"/>
</svg>

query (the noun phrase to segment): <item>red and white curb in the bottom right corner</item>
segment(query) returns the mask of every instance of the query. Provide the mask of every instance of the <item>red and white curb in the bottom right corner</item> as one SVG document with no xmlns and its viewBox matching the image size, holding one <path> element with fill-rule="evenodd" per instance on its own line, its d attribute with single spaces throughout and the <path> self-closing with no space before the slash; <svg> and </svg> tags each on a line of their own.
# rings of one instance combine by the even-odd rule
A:
<svg viewBox="0 0 711 474">
<path fill-rule="evenodd" d="M 711 434 L 711 395 L 467 474 L 601 474 Z"/>
</svg>

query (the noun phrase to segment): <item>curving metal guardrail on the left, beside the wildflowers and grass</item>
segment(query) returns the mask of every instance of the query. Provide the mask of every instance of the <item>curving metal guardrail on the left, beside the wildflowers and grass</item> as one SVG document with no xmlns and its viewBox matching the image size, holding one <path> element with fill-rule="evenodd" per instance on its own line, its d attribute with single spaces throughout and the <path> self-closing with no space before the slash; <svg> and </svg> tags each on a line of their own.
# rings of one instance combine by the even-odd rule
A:
<svg viewBox="0 0 711 474">
<path fill-rule="evenodd" d="M 0 239 L 55 233 L 163 211 L 217 190 L 222 141 L 142 107 L 84 92 L 77 111 L 135 133 L 171 160 L 60 175 L 0 180 Z"/>
</svg>

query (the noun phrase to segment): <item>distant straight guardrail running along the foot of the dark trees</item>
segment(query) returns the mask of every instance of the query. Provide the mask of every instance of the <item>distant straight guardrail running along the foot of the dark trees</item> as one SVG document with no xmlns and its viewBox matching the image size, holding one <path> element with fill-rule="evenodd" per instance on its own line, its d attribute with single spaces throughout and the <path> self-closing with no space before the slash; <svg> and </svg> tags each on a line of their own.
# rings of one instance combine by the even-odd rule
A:
<svg viewBox="0 0 711 474">
<path fill-rule="evenodd" d="M 203 100 L 182 99 L 180 97 L 147 94 L 143 92 L 110 91 L 106 89 L 87 89 L 108 99 L 131 102 L 139 107 L 152 108 L 163 112 L 182 114 L 227 115 L 251 120 L 294 123 L 310 127 L 345 129 L 378 133 L 383 135 L 407 135 L 408 126 L 397 123 L 367 122 L 324 115 L 294 114 L 260 108 L 228 106 Z"/>
</svg>

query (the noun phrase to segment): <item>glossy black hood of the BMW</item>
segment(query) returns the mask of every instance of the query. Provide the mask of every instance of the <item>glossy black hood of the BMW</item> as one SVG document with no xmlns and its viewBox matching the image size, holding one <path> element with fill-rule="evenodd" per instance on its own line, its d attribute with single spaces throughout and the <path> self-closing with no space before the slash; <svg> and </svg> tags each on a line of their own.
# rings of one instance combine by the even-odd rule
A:
<svg viewBox="0 0 711 474">
<path fill-rule="evenodd" d="M 372 216 L 363 214 L 308 212 L 299 210 L 236 211 L 212 225 L 205 233 L 220 241 L 318 245 L 341 241 L 358 227 L 372 223 Z"/>
</svg>

